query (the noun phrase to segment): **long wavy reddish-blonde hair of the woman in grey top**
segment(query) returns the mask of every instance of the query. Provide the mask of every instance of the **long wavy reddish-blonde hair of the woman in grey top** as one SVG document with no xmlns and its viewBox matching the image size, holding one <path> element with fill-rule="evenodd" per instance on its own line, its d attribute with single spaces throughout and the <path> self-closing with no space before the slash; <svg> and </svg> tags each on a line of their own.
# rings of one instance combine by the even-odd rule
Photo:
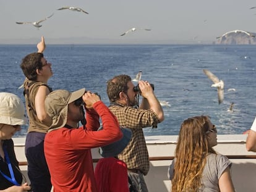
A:
<svg viewBox="0 0 256 192">
<path fill-rule="evenodd" d="M 210 119 L 207 116 L 184 120 L 176 146 L 176 160 L 172 192 L 196 192 L 200 188 L 207 153 L 216 153 L 208 146 L 207 131 Z"/>
</svg>

